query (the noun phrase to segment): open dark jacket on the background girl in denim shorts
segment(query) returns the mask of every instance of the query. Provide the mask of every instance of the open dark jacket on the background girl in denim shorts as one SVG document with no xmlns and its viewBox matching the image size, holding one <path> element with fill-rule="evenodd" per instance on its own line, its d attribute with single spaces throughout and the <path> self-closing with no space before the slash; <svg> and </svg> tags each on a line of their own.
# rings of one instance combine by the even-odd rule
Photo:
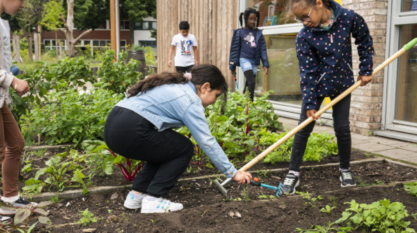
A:
<svg viewBox="0 0 417 233">
<path fill-rule="evenodd" d="M 229 56 L 229 70 L 236 70 L 236 66 L 240 66 L 240 29 L 236 29 L 233 32 L 230 45 Z M 266 53 L 265 38 L 263 38 L 262 30 L 256 29 L 256 52 L 255 52 L 255 65 L 261 65 L 263 67 L 269 67 L 268 54 Z"/>
</svg>

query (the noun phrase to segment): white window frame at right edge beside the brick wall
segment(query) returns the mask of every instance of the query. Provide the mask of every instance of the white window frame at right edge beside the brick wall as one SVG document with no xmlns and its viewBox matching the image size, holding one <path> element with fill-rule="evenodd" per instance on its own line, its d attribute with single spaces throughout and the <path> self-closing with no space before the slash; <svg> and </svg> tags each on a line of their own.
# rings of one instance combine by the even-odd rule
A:
<svg viewBox="0 0 417 233">
<path fill-rule="evenodd" d="M 401 1 L 400 1 L 401 2 Z M 386 59 L 400 50 L 400 26 L 417 24 L 417 11 L 401 12 L 398 0 L 388 1 L 388 20 L 386 29 Z M 404 55 L 405 56 L 405 55 Z M 384 94 L 382 104 L 382 129 L 417 134 L 417 123 L 395 120 L 397 99 L 398 60 L 385 68 Z"/>
</svg>

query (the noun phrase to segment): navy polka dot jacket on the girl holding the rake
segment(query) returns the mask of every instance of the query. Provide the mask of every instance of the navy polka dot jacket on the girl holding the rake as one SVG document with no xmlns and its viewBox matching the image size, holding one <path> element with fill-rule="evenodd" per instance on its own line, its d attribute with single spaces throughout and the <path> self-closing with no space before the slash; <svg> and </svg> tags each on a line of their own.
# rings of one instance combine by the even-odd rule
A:
<svg viewBox="0 0 417 233">
<path fill-rule="evenodd" d="M 335 1 L 332 8 L 336 18 L 329 31 L 304 26 L 295 41 L 302 105 L 307 110 L 316 108 L 318 97 L 337 96 L 354 84 L 351 36 L 358 49 L 359 74 L 373 73 L 373 39 L 365 20 Z"/>
</svg>

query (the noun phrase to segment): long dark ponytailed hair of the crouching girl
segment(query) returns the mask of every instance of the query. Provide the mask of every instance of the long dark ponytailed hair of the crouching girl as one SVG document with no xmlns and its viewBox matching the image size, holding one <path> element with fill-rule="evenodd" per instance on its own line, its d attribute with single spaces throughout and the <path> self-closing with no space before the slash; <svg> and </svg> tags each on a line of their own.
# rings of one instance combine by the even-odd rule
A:
<svg viewBox="0 0 417 233">
<path fill-rule="evenodd" d="M 193 78 L 190 80 L 190 82 L 193 83 L 194 86 L 202 86 L 204 83 L 210 83 L 211 90 L 222 90 L 224 97 L 224 109 L 224 106 L 227 102 L 228 86 L 226 79 L 224 79 L 224 76 L 219 68 L 215 65 L 208 64 L 195 65 L 195 67 L 191 69 L 191 75 Z M 127 97 L 130 98 L 138 94 L 142 95 L 143 93 L 146 93 L 147 90 L 151 90 L 157 86 L 162 86 L 165 84 L 183 84 L 187 82 L 188 79 L 184 77 L 183 73 L 163 72 L 161 74 L 152 74 L 147 79 L 144 79 L 129 88 L 127 91 Z"/>
</svg>

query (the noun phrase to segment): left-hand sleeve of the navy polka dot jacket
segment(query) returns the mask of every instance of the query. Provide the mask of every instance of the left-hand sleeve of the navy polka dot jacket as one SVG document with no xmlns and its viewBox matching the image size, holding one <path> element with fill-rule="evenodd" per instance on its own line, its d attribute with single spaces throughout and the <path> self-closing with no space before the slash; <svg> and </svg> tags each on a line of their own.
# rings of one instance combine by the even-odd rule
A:
<svg viewBox="0 0 417 233">
<path fill-rule="evenodd" d="M 302 40 L 300 34 L 297 35 L 295 40 L 295 49 L 297 49 L 298 65 L 300 67 L 300 86 L 304 109 L 316 109 L 318 59 L 316 58 L 314 51 L 312 51 L 311 45 Z"/>
</svg>

